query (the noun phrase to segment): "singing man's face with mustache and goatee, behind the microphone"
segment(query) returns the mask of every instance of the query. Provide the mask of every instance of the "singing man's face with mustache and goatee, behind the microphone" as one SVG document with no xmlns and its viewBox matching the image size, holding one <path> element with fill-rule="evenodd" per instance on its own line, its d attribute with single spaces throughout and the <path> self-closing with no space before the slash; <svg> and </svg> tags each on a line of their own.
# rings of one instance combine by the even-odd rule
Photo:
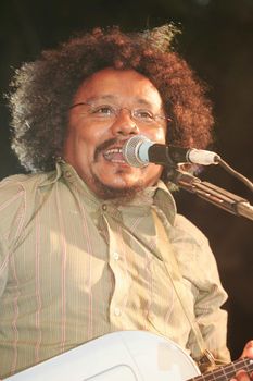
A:
<svg viewBox="0 0 253 381">
<path fill-rule="evenodd" d="M 124 143 L 137 134 L 165 143 L 165 120 L 159 119 L 155 125 L 138 123 L 129 112 L 144 109 L 164 115 L 161 96 L 152 83 L 132 70 L 104 69 L 87 78 L 77 90 L 73 105 L 84 102 L 92 107 L 78 105 L 69 111 L 64 159 L 89 188 L 99 197 L 109 198 L 106 189 L 121 195 L 154 185 L 162 173 L 160 165 L 134 168 L 121 153 Z M 102 105 L 106 107 L 101 109 Z M 119 110 L 115 118 L 100 118 L 100 113 L 110 113 L 107 106 Z"/>
</svg>

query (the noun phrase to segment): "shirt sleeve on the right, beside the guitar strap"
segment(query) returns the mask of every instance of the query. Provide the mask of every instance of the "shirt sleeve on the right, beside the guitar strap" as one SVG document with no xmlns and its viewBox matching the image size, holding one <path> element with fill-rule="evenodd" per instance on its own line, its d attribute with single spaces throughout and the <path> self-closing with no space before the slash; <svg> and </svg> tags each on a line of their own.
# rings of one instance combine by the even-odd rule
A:
<svg viewBox="0 0 253 381">
<path fill-rule="evenodd" d="M 220 283 L 215 257 L 205 235 L 182 216 L 177 216 L 172 243 L 182 278 L 194 293 L 194 316 L 206 349 L 218 362 L 229 362 L 227 348 L 227 312 L 222 309 L 227 294 Z M 188 348 L 192 357 L 198 353 L 191 331 Z"/>
</svg>

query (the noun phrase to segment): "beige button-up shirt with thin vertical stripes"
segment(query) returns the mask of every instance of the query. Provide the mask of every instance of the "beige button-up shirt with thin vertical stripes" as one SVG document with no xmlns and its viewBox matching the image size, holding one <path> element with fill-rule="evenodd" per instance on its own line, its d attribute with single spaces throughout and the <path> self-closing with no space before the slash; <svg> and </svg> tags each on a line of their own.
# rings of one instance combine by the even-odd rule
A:
<svg viewBox="0 0 253 381">
<path fill-rule="evenodd" d="M 0 217 L 0 377 L 118 330 L 159 333 L 197 356 L 174 288 L 178 275 L 165 266 L 172 256 L 206 347 L 229 360 L 214 256 L 162 182 L 116 206 L 62 162 L 50 173 L 4 179 Z"/>
</svg>

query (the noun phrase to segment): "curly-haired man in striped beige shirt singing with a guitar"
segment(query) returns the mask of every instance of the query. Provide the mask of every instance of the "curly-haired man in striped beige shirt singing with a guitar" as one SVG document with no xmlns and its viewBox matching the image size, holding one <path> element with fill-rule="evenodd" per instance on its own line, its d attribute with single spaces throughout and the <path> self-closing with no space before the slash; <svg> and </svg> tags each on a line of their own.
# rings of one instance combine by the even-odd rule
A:
<svg viewBox="0 0 253 381">
<path fill-rule="evenodd" d="M 2 377 L 118 330 L 162 334 L 198 360 L 194 324 L 217 364 L 229 361 L 207 239 L 176 213 L 162 167 L 122 155 L 139 134 L 211 143 L 210 103 L 168 50 L 172 29 L 96 29 L 13 81 L 13 148 L 34 173 L 1 183 Z"/>
</svg>

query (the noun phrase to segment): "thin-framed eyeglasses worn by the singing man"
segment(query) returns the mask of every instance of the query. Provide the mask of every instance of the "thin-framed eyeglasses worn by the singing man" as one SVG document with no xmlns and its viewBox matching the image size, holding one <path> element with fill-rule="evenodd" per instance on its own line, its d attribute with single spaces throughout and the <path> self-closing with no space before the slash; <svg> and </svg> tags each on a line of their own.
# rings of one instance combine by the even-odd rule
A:
<svg viewBox="0 0 253 381">
<path fill-rule="evenodd" d="M 79 102 L 72 105 L 69 109 L 73 109 L 78 106 L 88 106 L 89 108 L 86 111 L 90 118 L 101 120 L 101 121 L 114 121 L 119 115 L 122 110 L 127 110 L 130 114 L 132 121 L 138 124 L 151 124 L 157 125 L 157 120 L 172 121 L 168 116 L 154 115 L 152 111 L 142 108 L 128 109 L 126 107 L 116 107 L 114 105 L 92 105 L 88 102 Z"/>
</svg>

